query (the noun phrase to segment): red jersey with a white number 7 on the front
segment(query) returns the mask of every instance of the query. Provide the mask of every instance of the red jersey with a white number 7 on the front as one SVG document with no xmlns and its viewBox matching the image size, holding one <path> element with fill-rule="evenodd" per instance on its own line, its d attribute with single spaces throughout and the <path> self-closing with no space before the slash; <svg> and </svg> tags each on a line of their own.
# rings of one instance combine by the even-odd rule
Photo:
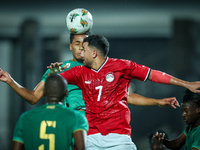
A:
<svg viewBox="0 0 200 150">
<path fill-rule="evenodd" d="M 150 68 L 129 60 L 107 58 L 98 70 L 76 66 L 60 73 L 82 89 L 89 134 L 131 135 L 128 87 L 132 79 L 145 81 Z"/>
</svg>

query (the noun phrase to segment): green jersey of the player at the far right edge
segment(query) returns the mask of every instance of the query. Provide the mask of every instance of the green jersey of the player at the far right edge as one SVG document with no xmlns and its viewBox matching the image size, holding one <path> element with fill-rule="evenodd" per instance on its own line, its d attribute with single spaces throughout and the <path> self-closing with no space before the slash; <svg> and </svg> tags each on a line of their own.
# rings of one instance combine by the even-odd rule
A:
<svg viewBox="0 0 200 150">
<path fill-rule="evenodd" d="M 200 126 L 192 128 L 191 125 L 188 125 L 184 130 L 184 134 L 186 135 L 184 150 L 200 149 Z"/>
</svg>

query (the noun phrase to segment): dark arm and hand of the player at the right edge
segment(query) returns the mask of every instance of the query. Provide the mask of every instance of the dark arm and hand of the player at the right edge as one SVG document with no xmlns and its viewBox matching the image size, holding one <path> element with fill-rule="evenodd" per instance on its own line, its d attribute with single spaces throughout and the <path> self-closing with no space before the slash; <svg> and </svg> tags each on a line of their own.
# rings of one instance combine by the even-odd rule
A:
<svg viewBox="0 0 200 150">
<path fill-rule="evenodd" d="M 154 138 L 169 149 L 180 149 L 185 144 L 186 135 L 183 132 L 177 139 L 168 140 L 164 133 L 156 132 Z"/>
</svg>

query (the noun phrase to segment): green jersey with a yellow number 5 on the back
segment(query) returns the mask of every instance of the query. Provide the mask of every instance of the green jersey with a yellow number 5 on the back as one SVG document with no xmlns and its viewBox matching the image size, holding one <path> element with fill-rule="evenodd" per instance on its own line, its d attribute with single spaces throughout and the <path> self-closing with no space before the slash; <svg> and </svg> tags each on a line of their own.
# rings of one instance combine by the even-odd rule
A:
<svg viewBox="0 0 200 150">
<path fill-rule="evenodd" d="M 28 150 L 68 150 L 77 130 L 88 130 L 82 113 L 64 105 L 46 104 L 20 116 L 13 141 L 24 143 Z"/>
</svg>

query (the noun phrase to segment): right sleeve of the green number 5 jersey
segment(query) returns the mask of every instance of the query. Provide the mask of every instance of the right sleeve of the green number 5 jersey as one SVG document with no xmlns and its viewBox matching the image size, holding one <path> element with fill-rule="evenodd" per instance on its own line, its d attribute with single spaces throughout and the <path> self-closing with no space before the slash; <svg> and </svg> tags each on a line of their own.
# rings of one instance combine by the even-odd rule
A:
<svg viewBox="0 0 200 150">
<path fill-rule="evenodd" d="M 88 121 L 84 114 L 81 112 L 76 112 L 76 124 L 74 125 L 73 132 L 77 130 L 85 130 L 88 131 Z"/>
</svg>

